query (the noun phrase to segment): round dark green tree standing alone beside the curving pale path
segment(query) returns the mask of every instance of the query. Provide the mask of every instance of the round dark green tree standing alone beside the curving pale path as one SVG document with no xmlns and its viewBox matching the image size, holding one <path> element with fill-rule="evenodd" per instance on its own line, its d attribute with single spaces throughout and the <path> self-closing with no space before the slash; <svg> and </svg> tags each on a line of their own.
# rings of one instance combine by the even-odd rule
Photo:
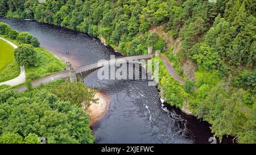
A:
<svg viewBox="0 0 256 155">
<path fill-rule="evenodd" d="M 20 66 L 35 66 L 36 52 L 31 45 L 21 45 L 14 50 L 15 60 Z"/>
</svg>

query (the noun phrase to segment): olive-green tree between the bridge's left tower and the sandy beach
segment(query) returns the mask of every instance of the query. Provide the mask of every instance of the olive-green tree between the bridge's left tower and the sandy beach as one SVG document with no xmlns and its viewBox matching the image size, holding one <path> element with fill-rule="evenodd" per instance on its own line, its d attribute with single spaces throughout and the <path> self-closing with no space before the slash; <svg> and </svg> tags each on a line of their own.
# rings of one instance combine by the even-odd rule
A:
<svg viewBox="0 0 256 155">
<path fill-rule="evenodd" d="M 95 92 L 82 82 L 65 82 L 63 85 L 53 89 L 52 93 L 56 94 L 61 100 L 69 101 L 78 107 L 81 107 L 82 103 L 84 103 L 85 108 L 88 108 L 91 102 L 97 102 L 94 99 Z"/>
</svg>

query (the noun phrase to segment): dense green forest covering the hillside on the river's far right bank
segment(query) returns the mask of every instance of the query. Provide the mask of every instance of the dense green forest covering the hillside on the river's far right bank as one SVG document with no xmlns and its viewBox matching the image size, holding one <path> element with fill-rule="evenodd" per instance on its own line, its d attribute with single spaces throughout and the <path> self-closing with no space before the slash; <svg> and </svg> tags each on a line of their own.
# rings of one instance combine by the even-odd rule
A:
<svg viewBox="0 0 256 155">
<path fill-rule="evenodd" d="M 256 143 L 255 0 L 0 0 L 0 16 L 104 38 L 123 55 L 146 54 L 152 46 L 187 79 L 180 86 L 161 68 L 160 89 L 170 104 L 187 102 L 193 115 L 212 124 L 215 136 Z M 192 76 L 187 64 L 195 64 Z"/>
</svg>

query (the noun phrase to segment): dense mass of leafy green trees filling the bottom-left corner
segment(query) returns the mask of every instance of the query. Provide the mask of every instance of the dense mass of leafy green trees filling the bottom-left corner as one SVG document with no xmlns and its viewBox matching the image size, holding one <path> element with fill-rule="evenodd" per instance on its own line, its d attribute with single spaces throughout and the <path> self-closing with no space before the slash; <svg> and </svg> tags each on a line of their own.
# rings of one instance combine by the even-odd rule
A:
<svg viewBox="0 0 256 155">
<path fill-rule="evenodd" d="M 43 90 L 0 92 L 0 143 L 93 143 L 84 110 Z M 4 131 L 4 132 L 3 132 Z"/>
</svg>

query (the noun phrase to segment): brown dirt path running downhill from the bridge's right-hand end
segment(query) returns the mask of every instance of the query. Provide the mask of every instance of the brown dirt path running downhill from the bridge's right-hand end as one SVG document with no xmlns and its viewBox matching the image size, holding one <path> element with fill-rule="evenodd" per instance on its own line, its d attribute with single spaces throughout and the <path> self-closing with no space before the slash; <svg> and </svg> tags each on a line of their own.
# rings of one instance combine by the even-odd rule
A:
<svg viewBox="0 0 256 155">
<path fill-rule="evenodd" d="M 177 74 L 177 72 L 176 72 L 175 68 L 172 66 L 172 64 L 171 64 L 171 62 L 170 62 L 170 60 L 169 60 L 169 58 L 168 58 L 166 55 L 164 55 L 163 53 L 161 53 L 159 57 L 162 59 L 162 61 L 163 61 L 163 63 L 164 63 L 164 66 L 166 66 L 166 69 L 168 70 L 169 74 L 170 74 L 174 79 L 176 79 L 177 81 L 179 81 L 181 85 L 184 85 L 184 84 L 185 84 L 184 79 L 181 78 L 181 77 Z"/>
</svg>

